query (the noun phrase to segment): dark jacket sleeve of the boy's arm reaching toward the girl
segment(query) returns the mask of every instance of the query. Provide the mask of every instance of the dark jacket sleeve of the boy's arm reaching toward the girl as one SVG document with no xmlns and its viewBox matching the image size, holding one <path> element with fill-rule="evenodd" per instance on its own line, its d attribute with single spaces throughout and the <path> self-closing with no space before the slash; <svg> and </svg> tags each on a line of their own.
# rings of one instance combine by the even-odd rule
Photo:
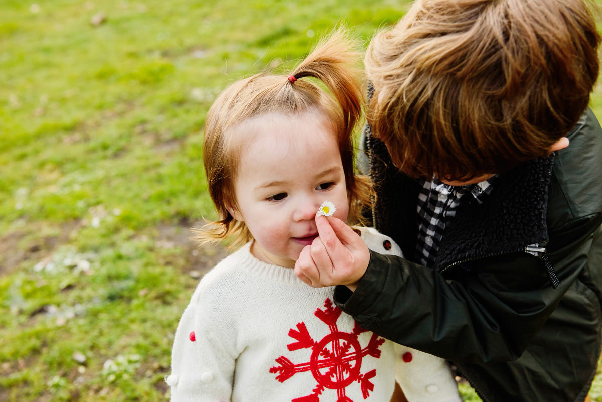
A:
<svg viewBox="0 0 602 402">
<path fill-rule="evenodd" d="M 406 259 L 371 252 L 358 288 L 337 286 L 335 303 L 365 329 L 435 356 L 471 363 L 515 360 L 588 264 L 594 225 L 582 226 L 573 244 L 550 256 L 561 282 L 556 289 L 541 260 L 527 253 L 483 259 L 446 279 Z"/>
</svg>

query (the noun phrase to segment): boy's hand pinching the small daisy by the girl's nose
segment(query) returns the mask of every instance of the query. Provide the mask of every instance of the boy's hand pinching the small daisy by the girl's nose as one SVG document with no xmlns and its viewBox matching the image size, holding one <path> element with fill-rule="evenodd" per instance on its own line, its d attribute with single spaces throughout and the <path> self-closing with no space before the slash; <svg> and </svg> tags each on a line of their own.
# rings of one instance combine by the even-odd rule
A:
<svg viewBox="0 0 602 402">
<path fill-rule="evenodd" d="M 314 288 L 346 285 L 355 291 L 370 262 L 368 247 L 338 218 L 317 215 L 315 225 L 319 237 L 303 247 L 295 274 Z"/>
</svg>

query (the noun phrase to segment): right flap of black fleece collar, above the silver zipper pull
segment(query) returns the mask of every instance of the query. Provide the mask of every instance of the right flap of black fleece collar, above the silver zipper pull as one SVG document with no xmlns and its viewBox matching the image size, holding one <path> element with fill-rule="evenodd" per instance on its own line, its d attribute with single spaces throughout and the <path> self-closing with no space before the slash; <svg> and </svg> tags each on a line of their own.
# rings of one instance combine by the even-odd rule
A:
<svg viewBox="0 0 602 402">
<path fill-rule="evenodd" d="M 467 199 L 445 228 L 436 268 L 454 262 L 524 251 L 548 240 L 546 214 L 554 157 L 500 174 L 482 203 Z"/>
</svg>

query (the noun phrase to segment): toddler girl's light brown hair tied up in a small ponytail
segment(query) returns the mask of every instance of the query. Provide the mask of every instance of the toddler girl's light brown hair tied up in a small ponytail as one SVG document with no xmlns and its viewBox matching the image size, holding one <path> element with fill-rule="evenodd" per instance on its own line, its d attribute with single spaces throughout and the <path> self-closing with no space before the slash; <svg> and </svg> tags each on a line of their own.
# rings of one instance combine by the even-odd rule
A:
<svg viewBox="0 0 602 402">
<path fill-rule="evenodd" d="M 247 120 L 268 113 L 299 115 L 322 114 L 333 128 L 341 154 L 349 196 L 349 219 L 360 218 L 361 206 L 369 203 L 371 194 L 367 178 L 353 171 L 352 133 L 362 116 L 364 104 L 362 83 L 358 79 L 360 54 L 355 43 L 346 39 L 342 29 L 303 60 L 291 75 L 259 73 L 226 88 L 211 106 L 205 120 L 203 163 L 209 195 L 216 206 L 219 220 L 205 224 L 197 233 L 200 243 L 234 238 L 233 245 L 252 239 L 246 224 L 237 221 L 227 207 L 235 208 L 234 182 L 237 174 L 240 144 L 245 130 L 238 128 Z M 290 77 L 290 78 L 289 78 Z M 316 84 L 301 78 L 320 80 L 330 94 Z"/>
</svg>

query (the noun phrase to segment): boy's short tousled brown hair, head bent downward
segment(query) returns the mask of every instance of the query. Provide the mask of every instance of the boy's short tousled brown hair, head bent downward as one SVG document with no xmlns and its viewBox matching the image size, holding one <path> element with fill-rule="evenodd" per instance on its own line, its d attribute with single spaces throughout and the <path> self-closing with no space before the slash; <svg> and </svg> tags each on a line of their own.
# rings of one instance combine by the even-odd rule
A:
<svg viewBox="0 0 602 402">
<path fill-rule="evenodd" d="M 410 176 L 504 172 L 576 125 L 599 41 L 583 0 L 417 0 L 368 47 L 368 122 Z"/>
</svg>

